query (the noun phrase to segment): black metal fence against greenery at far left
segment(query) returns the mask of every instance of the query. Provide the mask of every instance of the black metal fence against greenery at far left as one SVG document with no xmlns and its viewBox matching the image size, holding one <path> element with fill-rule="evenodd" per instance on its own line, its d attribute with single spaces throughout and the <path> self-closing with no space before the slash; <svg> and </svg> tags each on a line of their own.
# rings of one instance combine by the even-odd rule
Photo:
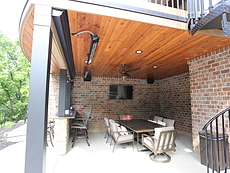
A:
<svg viewBox="0 0 230 173">
<path fill-rule="evenodd" d="M 12 109 L 0 110 L 0 127 L 4 126 L 7 121 L 18 122 L 19 120 L 26 121 L 28 116 L 28 105 L 13 107 Z"/>
</svg>

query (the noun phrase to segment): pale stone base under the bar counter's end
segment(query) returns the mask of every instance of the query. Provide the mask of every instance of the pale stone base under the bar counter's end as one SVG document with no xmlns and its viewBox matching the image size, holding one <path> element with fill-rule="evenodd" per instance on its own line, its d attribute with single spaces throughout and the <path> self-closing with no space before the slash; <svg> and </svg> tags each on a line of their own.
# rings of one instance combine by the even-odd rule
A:
<svg viewBox="0 0 230 173">
<path fill-rule="evenodd" d="M 67 154 L 70 131 L 69 118 L 56 118 L 54 126 L 54 148 L 58 155 Z"/>
</svg>

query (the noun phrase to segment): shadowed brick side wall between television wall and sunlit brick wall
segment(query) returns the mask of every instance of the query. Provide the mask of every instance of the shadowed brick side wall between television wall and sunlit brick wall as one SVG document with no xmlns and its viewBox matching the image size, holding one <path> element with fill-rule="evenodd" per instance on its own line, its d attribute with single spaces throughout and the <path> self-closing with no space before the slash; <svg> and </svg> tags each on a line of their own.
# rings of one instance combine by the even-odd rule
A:
<svg viewBox="0 0 230 173">
<path fill-rule="evenodd" d="M 175 120 L 175 127 L 192 133 L 189 73 L 175 75 L 159 82 L 160 115 Z"/>
</svg>

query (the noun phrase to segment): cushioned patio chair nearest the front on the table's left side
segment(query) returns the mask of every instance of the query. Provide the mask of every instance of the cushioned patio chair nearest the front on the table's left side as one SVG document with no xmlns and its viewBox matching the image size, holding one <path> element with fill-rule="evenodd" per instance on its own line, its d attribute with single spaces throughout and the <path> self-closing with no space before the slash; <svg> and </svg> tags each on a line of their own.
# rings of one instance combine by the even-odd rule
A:
<svg viewBox="0 0 230 173">
<path fill-rule="evenodd" d="M 110 129 L 111 129 L 111 136 L 114 141 L 114 147 L 113 151 L 115 149 L 115 146 L 117 144 L 122 144 L 122 143 L 133 143 L 133 149 L 134 149 L 134 134 L 132 131 L 127 131 L 123 130 L 125 127 L 121 128 L 120 130 L 118 129 L 117 123 L 115 123 L 114 120 L 110 119 L 109 120 L 110 124 Z"/>
</svg>

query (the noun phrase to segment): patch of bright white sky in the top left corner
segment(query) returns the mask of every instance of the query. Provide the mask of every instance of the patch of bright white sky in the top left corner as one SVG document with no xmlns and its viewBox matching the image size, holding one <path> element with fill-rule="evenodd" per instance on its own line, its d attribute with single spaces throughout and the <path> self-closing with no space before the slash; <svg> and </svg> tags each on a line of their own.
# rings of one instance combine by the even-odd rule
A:
<svg viewBox="0 0 230 173">
<path fill-rule="evenodd" d="M 0 31 L 9 39 L 19 36 L 18 26 L 26 0 L 0 0 Z"/>
</svg>

